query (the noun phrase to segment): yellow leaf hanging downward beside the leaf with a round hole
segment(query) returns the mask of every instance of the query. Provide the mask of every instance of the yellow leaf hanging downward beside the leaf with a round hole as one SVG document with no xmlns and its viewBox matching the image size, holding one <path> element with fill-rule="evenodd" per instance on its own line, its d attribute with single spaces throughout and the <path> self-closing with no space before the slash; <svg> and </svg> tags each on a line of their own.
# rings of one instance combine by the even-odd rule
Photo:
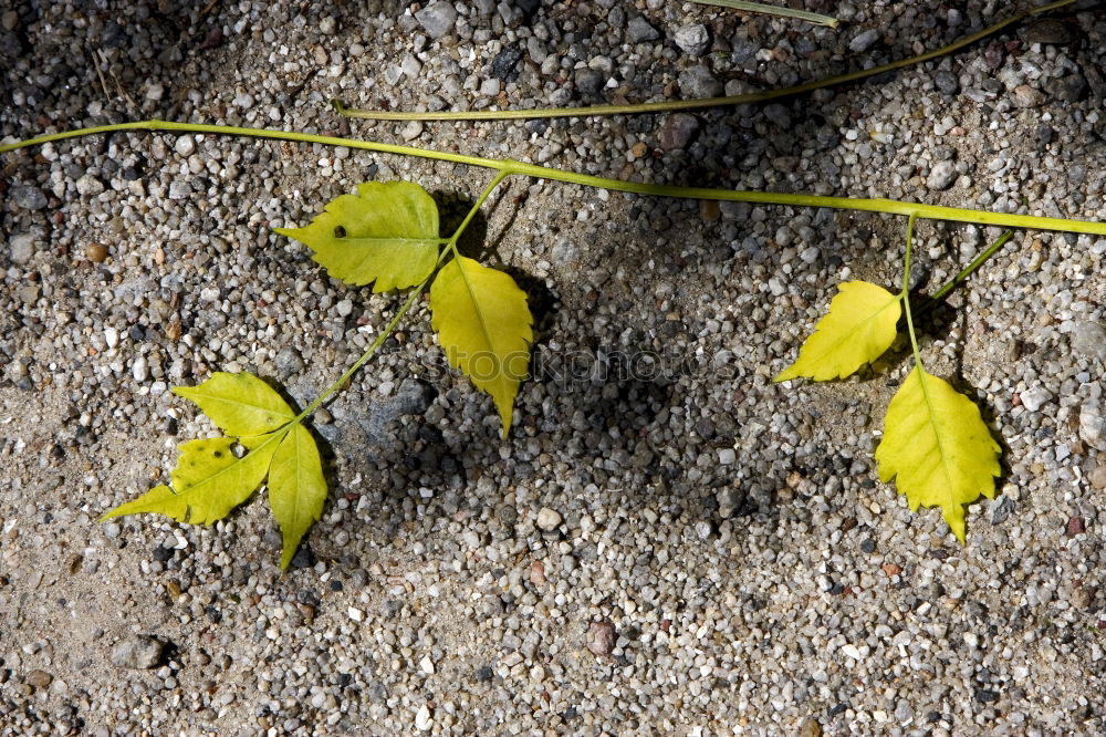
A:
<svg viewBox="0 0 1106 737">
<path fill-rule="evenodd" d="M 502 271 L 458 256 L 430 286 L 430 314 L 449 364 L 491 395 L 507 437 L 534 336 L 526 293 Z"/>
</svg>

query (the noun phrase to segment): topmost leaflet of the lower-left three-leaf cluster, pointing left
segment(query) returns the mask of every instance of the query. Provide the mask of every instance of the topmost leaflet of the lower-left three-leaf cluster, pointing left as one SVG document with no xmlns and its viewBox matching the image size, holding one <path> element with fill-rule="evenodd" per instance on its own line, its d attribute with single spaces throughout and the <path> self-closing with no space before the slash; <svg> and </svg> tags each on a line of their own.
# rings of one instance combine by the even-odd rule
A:
<svg viewBox="0 0 1106 737">
<path fill-rule="evenodd" d="M 227 435 L 263 435 L 295 419 L 280 394 L 250 373 L 217 371 L 197 386 L 175 386 L 173 393 L 195 402 Z"/>
</svg>

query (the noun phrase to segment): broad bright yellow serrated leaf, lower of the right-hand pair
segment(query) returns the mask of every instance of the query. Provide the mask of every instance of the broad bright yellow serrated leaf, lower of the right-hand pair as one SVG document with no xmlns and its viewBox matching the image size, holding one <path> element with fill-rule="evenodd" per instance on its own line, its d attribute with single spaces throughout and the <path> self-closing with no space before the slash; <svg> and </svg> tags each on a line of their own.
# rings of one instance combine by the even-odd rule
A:
<svg viewBox="0 0 1106 737">
<path fill-rule="evenodd" d="M 910 509 L 940 507 L 953 534 L 964 541 L 964 508 L 980 495 L 994 498 L 999 444 L 979 407 L 916 365 L 887 407 L 876 448 L 879 478 L 895 478 Z"/>
</svg>

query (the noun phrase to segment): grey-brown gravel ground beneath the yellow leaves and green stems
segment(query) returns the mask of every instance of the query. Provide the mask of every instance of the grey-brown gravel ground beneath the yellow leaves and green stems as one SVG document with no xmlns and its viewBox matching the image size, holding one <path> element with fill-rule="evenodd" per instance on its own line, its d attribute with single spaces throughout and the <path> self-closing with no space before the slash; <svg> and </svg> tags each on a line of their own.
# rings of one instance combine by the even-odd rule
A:
<svg viewBox="0 0 1106 737">
<path fill-rule="evenodd" d="M 1106 219 L 1100 10 L 768 106 L 376 125 L 325 101 L 766 89 L 1026 3 L 807 0 L 837 31 L 671 0 L 18 4 L 3 137 L 159 116 Z M 902 219 L 512 180 L 478 224 L 539 323 L 511 437 L 442 369 L 420 305 L 319 417 L 333 494 L 281 574 L 262 499 L 208 529 L 96 519 L 212 430 L 167 386 L 248 370 L 309 401 L 398 307 L 271 226 L 396 178 L 456 224 L 488 173 L 147 134 L 0 166 L 0 734 L 1106 730 L 1106 239 L 1018 233 L 926 326 L 929 370 L 1005 446 L 961 547 L 876 478 L 905 351 L 835 384 L 770 381 L 837 282 L 896 283 Z M 997 235 L 920 225 L 916 278 L 936 288 Z"/>
</svg>

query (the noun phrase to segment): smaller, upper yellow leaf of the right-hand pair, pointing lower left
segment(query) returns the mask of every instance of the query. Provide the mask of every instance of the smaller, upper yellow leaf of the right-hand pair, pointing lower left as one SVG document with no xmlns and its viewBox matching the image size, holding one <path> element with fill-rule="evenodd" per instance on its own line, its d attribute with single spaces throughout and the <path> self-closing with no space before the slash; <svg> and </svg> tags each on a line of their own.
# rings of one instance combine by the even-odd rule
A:
<svg viewBox="0 0 1106 737">
<path fill-rule="evenodd" d="M 867 281 L 846 281 L 837 289 L 830 311 L 803 343 L 799 359 L 775 381 L 844 378 L 878 359 L 895 342 L 902 302 L 899 294 Z"/>
</svg>

